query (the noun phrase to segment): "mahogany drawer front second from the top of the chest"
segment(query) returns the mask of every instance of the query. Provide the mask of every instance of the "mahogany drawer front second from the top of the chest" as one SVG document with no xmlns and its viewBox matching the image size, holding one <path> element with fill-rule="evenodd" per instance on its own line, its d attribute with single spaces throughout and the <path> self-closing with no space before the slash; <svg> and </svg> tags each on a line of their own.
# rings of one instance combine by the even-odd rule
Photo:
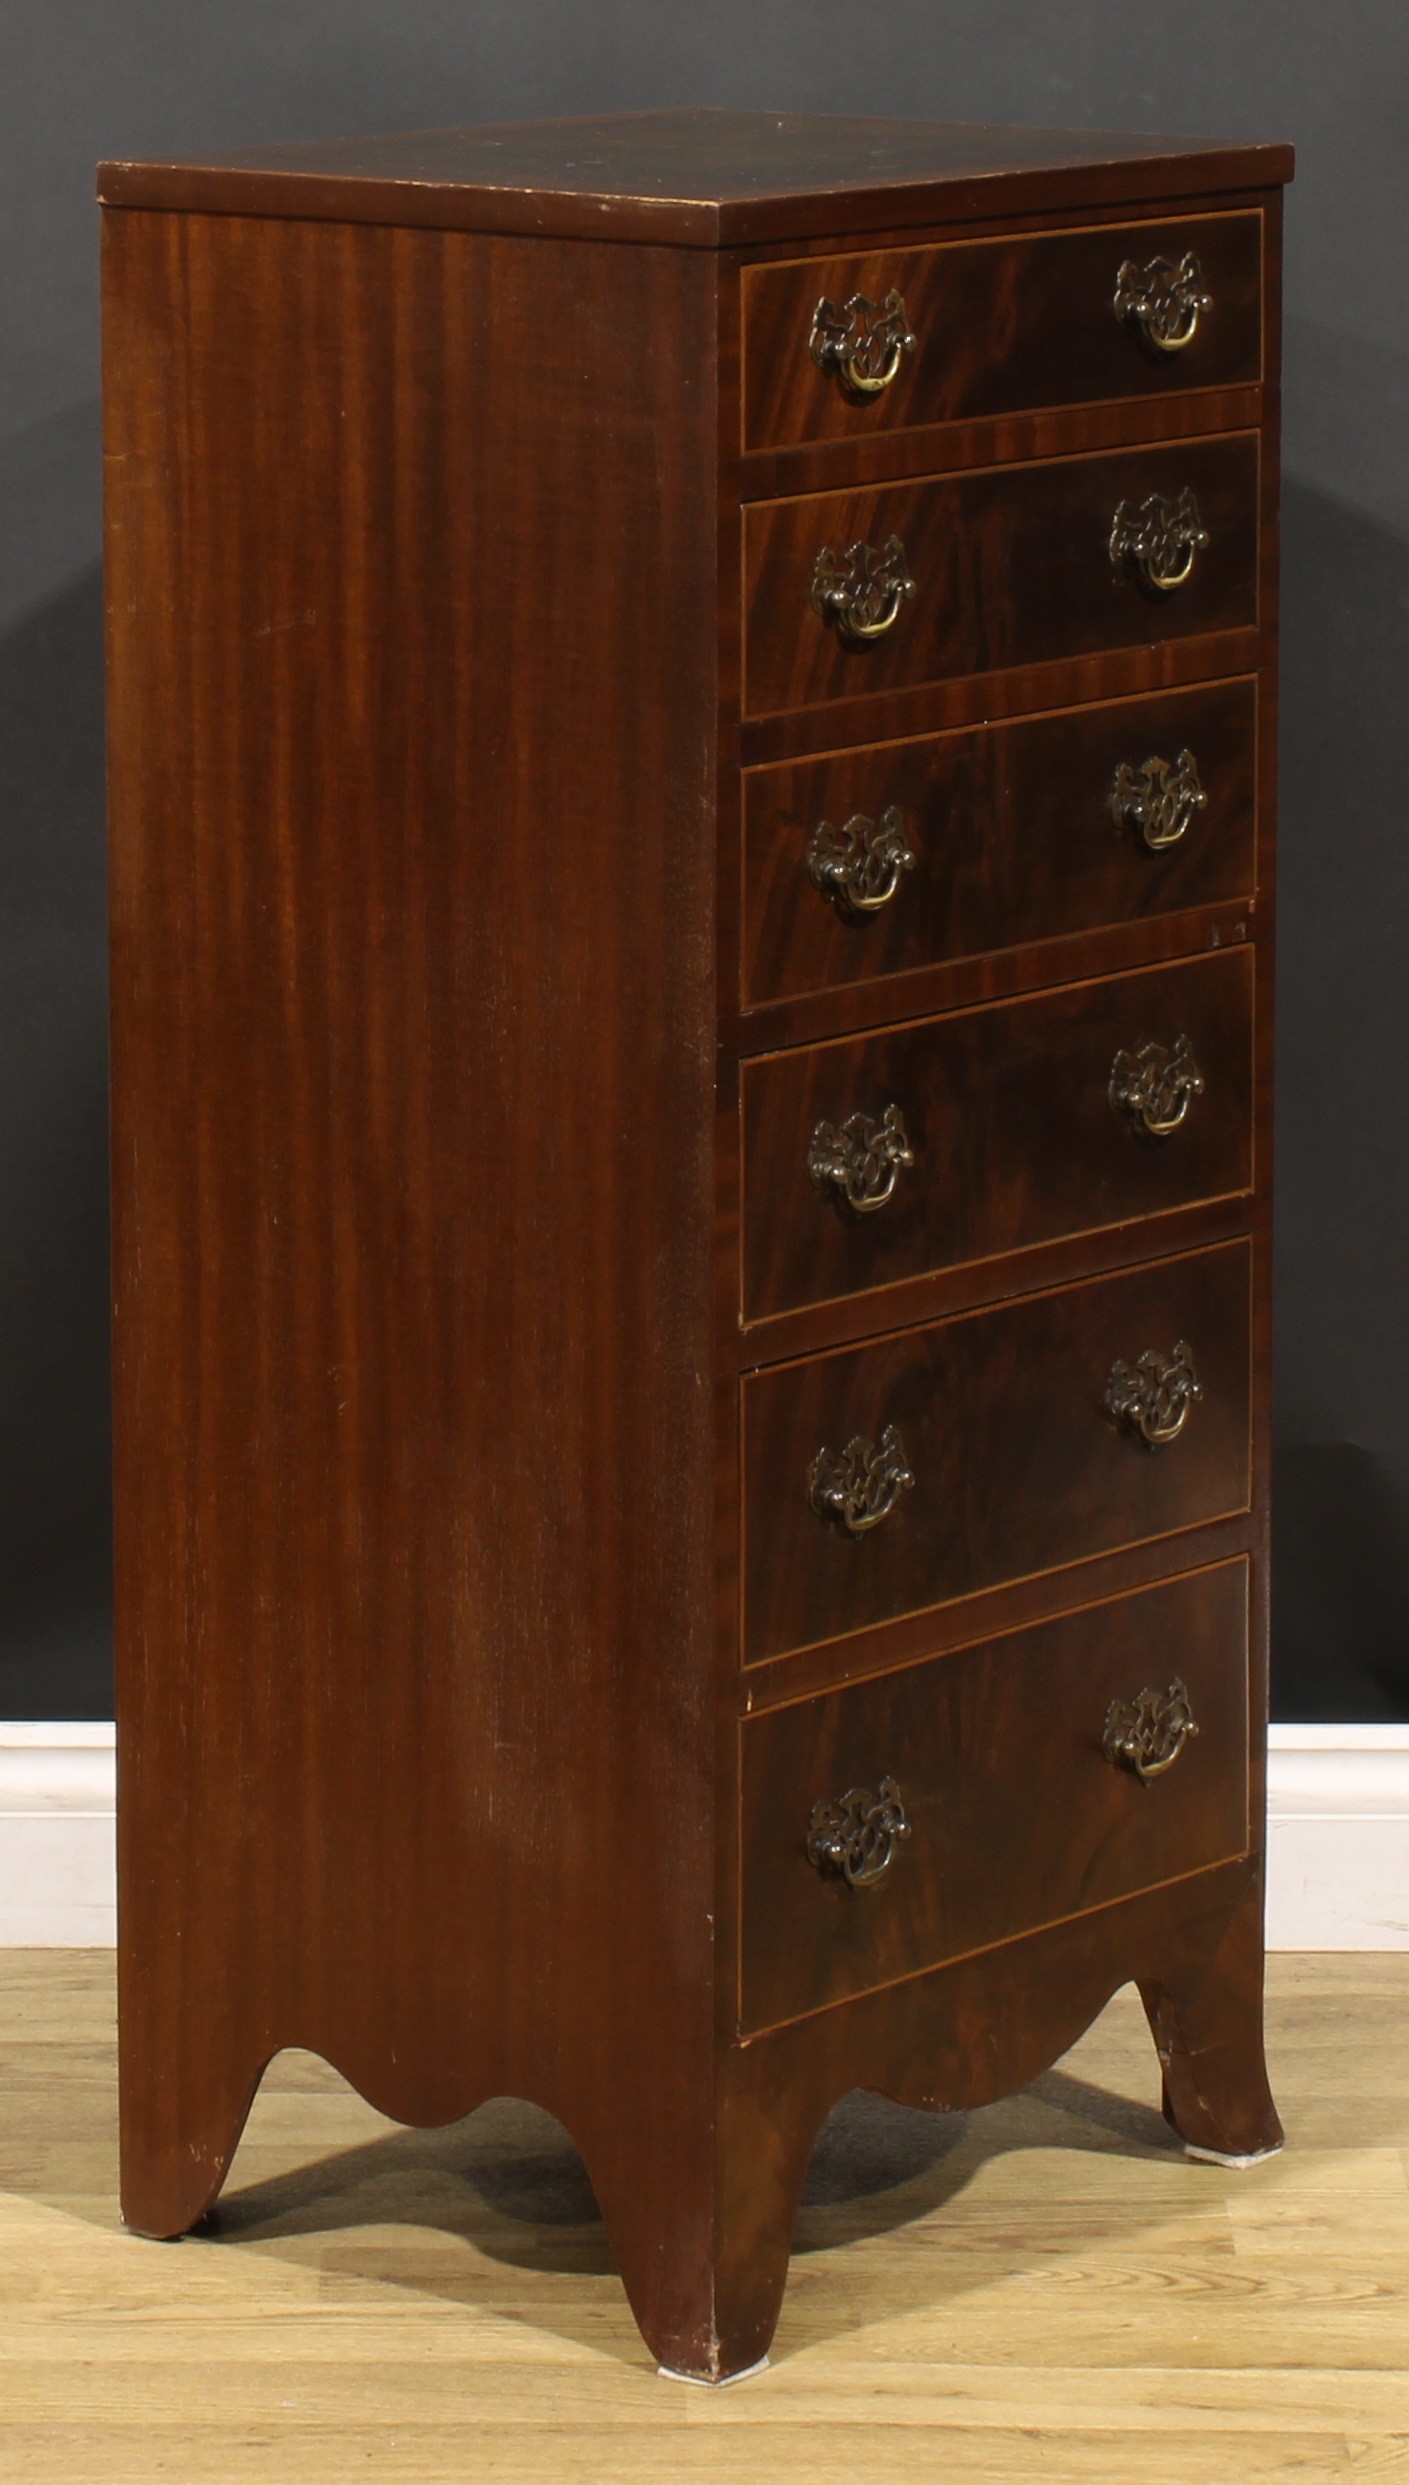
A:
<svg viewBox="0 0 1409 2485">
<path fill-rule="evenodd" d="M 755 502 L 743 569 L 753 716 L 1252 626 L 1257 435 Z"/>
</svg>

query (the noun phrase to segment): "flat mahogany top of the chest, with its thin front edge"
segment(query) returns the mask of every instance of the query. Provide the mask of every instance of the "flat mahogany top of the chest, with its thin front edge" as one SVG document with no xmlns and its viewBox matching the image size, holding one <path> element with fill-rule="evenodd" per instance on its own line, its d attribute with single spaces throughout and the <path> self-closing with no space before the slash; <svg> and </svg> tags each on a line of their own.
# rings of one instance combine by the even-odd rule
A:
<svg viewBox="0 0 1409 2485">
<path fill-rule="evenodd" d="M 117 162 L 99 166 L 99 199 L 721 248 L 1290 176 L 1292 149 L 1280 144 L 678 109 Z"/>
</svg>

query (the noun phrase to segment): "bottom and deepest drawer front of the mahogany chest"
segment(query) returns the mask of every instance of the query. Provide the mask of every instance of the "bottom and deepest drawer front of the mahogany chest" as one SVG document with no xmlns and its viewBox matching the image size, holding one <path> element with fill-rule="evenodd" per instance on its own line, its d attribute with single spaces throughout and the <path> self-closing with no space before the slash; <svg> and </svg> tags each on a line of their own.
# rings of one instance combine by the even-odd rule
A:
<svg viewBox="0 0 1409 2485">
<path fill-rule="evenodd" d="M 1106 1747 L 1131 1727 L 1148 1779 Z M 743 2025 L 765 2028 L 1245 1854 L 1245 1563 L 803 1700 L 741 1740 Z"/>
</svg>

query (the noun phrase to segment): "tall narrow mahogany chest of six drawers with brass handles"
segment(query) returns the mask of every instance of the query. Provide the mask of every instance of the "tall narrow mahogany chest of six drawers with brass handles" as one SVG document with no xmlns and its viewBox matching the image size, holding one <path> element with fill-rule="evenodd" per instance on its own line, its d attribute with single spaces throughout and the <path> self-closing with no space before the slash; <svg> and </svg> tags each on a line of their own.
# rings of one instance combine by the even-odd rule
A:
<svg viewBox="0 0 1409 2485">
<path fill-rule="evenodd" d="M 1280 147 L 117 164 L 124 2204 L 562 2117 L 659 2361 L 815 2132 L 1260 2040 Z"/>
</svg>

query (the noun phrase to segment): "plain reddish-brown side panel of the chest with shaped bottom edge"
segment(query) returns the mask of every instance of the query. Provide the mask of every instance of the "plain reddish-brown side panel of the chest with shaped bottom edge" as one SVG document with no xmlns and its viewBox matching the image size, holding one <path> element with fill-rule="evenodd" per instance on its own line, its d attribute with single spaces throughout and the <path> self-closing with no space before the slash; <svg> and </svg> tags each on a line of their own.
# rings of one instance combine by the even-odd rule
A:
<svg viewBox="0 0 1409 2485">
<path fill-rule="evenodd" d="M 619 276 L 591 244 L 107 219 L 154 2232 L 281 2045 L 403 2120 L 539 2097 L 624 2256 L 631 2197 L 703 2167 L 713 263 Z M 634 2286 L 656 2333 L 706 2249 L 678 2182 L 676 2266 Z"/>
</svg>

